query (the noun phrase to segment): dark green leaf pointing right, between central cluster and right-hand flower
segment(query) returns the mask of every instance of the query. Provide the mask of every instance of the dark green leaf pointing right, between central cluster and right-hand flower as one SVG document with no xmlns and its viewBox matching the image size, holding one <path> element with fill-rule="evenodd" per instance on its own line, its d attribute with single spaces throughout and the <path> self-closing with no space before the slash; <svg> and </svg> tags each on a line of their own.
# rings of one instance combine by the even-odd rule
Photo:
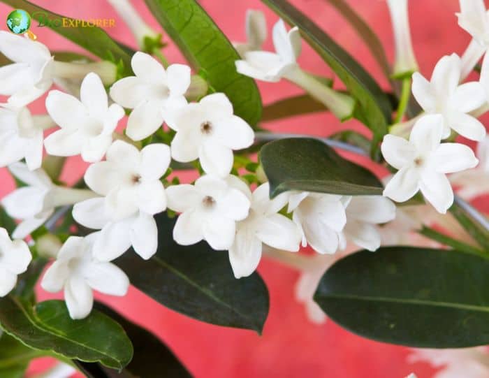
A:
<svg viewBox="0 0 489 378">
<path fill-rule="evenodd" d="M 382 194 L 370 170 L 340 157 L 312 138 L 286 138 L 263 146 L 260 161 L 270 182 L 270 195 L 302 190 L 344 195 Z"/>
</svg>

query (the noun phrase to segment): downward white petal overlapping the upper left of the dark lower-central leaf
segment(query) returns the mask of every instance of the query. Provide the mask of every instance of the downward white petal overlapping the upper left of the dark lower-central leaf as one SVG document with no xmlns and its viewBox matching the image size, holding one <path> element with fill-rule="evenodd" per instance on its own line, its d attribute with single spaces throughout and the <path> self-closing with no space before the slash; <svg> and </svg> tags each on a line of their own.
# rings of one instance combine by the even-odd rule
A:
<svg viewBox="0 0 489 378">
<path fill-rule="evenodd" d="M 158 228 L 152 215 L 140 212 L 131 224 L 131 242 L 136 253 L 147 260 L 158 248 Z"/>
</svg>

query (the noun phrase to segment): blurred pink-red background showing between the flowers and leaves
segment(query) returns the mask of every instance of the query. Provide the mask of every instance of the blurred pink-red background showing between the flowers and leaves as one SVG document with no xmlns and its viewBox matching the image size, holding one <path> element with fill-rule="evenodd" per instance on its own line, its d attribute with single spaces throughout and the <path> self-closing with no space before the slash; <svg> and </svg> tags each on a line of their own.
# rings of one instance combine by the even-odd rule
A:
<svg viewBox="0 0 489 378">
<path fill-rule="evenodd" d="M 136 48 L 129 29 L 103 0 L 34 2 L 56 13 L 75 18 L 115 18 L 116 27 L 107 29 L 108 33 Z M 277 16 L 258 0 L 203 0 L 200 3 L 232 41 L 243 41 L 245 38 L 244 20 L 247 8 L 263 10 L 269 27 L 277 20 Z M 381 85 L 387 88 L 387 82 L 369 50 L 327 1 L 295 0 L 293 3 L 334 36 L 337 43 L 361 61 L 367 70 L 380 80 Z M 350 0 L 349 3 L 372 25 L 392 61 L 393 38 L 385 1 Z M 160 30 L 143 0 L 133 0 L 133 4 L 154 29 Z M 416 56 L 421 72 L 429 76 L 441 55 L 451 52 L 461 54 L 469 42 L 469 36 L 456 22 L 454 13 L 458 11 L 458 1 L 411 0 L 410 5 Z M 7 6 L 1 5 L 0 19 L 6 17 L 9 10 Z M 71 43 L 48 28 L 33 27 L 32 31 L 38 35 L 39 41 L 48 45 L 51 50 L 73 48 Z M 272 43 L 269 39 L 265 49 L 271 48 Z M 74 47 L 74 50 L 82 51 L 78 47 Z M 171 62 L 184 62 L 175 46 L 171 44 L 165 50 L 165 54 Z M 332 75 L 321 58 L 305 44 L 300 64 L 313 73 Z M 339 81 L 336 85 L 341 87 Z M 286 82 L 259 83 L 259 87 L 264 103 L 300 93 L 298 88 Z M 43 113 L 43 99 L 31 106 L 31 110 L 34 113 Z M 340 124 L 326 113 L 294 117 L 265 126 L 274 131 L 310 133 L 317 136 L 328 136 L 345 128 L 367 133 L 358 122 Z M 84 166 L 78 158 L 69 159 L 63 178 L 68 182 L 74 182 L 82 175 Z M 384 172 L 377 168 L 377 173 Z M 3 196 L 13 188 L 13 181 L 5 169 L 0 170 L 0 177 L 3 183 L 0 195 Z M 477 205 L 486 211 L 489 210 L 488 201 L 480 199 Z M 405 377 L 410 372 L 416 372 L 418 377 L 424 378 L 431 377 L 435 372 L 425 363 L 407 363 L 407 348 L 365 340 L 346 332 L 333 321 L 327 321 L 321 326 L 311 324 L 302 305 L 296 303 L 293 298 L 298 272 L 268 259 L 263 259 L 258 270 L 270 290 L 270 315 L 262 336 L 247 330 L 222 328 L 189 319 L 167 310 L 136 289 L 131 289 L 125 298 L 110 298 L 108 302 L 130 319 L 161 337 L 196 377 Z M 41 291 L 39 294 L 41 299 L 52 298 Z"/>
</svg>

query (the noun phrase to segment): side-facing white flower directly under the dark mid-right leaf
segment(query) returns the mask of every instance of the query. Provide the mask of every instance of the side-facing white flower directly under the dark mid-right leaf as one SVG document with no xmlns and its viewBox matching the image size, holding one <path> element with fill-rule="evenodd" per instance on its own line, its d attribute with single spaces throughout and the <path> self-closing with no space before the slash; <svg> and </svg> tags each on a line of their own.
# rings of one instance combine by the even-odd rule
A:
<svg viewBox="0 0 489 378">
<path fill-rule="evenodd" d="M 308 244 L 320 254 L 334 254 L 344 249 L 342 233 L 346 225 L 345 208 L 350 196 L 335 194 L 291 192 L 288 212 L 302 233 L 302 247 Z"/>
</svg>

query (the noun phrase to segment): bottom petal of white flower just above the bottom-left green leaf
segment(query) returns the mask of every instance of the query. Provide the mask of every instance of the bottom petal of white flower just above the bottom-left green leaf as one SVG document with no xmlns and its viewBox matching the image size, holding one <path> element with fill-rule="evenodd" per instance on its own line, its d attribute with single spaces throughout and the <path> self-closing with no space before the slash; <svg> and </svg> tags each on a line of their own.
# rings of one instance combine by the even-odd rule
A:
<svg viewBox="0 0 489 378">
<path fill-rule="evenodd" d="M 64 300 L 71 319 L 83 319 L 89 315 L 94 305 L 92 289 L 78 276 L 68 279 L 64 286 Z"/>
</svg>

